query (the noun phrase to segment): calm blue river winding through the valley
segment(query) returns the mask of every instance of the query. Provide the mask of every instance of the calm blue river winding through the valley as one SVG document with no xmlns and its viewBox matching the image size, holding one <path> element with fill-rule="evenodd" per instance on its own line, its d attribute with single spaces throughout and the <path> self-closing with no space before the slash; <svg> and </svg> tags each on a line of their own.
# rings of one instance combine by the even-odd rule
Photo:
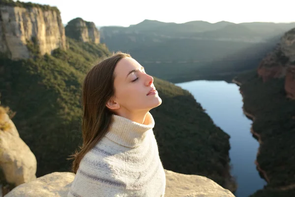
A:
<svg viewBox="0 0 295 197">
<path fill-rule="evenodd" d="M 250 133 L 252 121 L 243 114 L 239 87 L 225 81 L 205 80 L 175 85 L 188 90 L 214 123 L 231 136 L 231 174 L 238 185 L 235 196 L 248 197 L 263 189 L 266 181 L 259 176 L 254 164 L 259 143 Z"/>
</svg>

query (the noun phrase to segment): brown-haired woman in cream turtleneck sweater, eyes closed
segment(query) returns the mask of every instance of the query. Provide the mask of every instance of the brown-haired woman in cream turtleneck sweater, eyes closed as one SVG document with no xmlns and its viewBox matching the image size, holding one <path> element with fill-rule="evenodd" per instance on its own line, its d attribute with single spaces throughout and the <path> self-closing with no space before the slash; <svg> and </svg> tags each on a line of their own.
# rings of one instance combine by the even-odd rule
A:
<svg viewBox="0 0 295 197">
<path fill-rule="evenodd" d="M 92 67 L 83 84 L 83 146 L 68 197 L 164 197 L 166 178 L 149 110 L 162 99 L 129 54 Z"/>
</svg>

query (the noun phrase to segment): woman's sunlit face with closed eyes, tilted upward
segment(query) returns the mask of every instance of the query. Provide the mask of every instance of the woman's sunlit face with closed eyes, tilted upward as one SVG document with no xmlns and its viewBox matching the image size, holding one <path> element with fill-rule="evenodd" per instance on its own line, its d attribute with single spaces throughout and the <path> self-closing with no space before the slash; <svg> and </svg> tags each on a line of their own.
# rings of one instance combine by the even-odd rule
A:
<svg viewBox="0 0 295 197">
<path fill-rule="evenodd" d="M 157 91 L 155 94 L 147 95 L 151 89 L 155 89 L 153 78 L 132 58 L 123 58 L 118 62 L 114 87 L 114 100 L 119 104 L 119 110 L 148 111 L 162 103 Z"/>
</svg>

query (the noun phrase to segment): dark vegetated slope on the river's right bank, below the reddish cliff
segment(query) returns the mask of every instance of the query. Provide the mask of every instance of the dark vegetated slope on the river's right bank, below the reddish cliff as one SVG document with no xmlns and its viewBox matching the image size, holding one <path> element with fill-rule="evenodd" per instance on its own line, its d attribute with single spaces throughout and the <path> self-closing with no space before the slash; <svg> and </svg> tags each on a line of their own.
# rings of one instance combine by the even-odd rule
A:
<svg viewBox="0 0 295 197">
<path fill-rule="evenodd" d="M 266 171 L 269 190 L 257 192 L 253 197 L 264 197 L 271 189 L 295 184 L 295 100 L 286 98 L 284 78 L 263 83 L 256 71 L 251 71 L 236 80 L 242 83 L 245 110 L 255 116 L 253 130 L 263 141 L 257 161 Z M 287 194 L 295 196 L 295 190 L 272 196 Z"/>
</svg>

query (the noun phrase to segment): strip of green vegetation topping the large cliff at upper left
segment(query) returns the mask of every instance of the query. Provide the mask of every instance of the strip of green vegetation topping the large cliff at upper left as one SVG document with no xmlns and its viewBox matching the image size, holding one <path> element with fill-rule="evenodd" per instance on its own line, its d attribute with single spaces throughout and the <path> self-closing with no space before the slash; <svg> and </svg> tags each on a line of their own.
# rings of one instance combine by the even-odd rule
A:
<svg viewBox="0 0 295 197">
<path fill-rule="evenodd" d="M 0 0 L 0 5 L 9 5 L 13 7 L 24 7 L 24 8 L 32 8 L 37 7 L 41 8 L 44 11 L 56 11 L 58 14 L 60 14 L 59 9 L 55 6 L 49 6 L 49 5 L 42 5 L 38 3 L 31 3 L 31 2 L 21 2 L 19 0 L 13 1 L 13 0 Z"/>
</svg>

